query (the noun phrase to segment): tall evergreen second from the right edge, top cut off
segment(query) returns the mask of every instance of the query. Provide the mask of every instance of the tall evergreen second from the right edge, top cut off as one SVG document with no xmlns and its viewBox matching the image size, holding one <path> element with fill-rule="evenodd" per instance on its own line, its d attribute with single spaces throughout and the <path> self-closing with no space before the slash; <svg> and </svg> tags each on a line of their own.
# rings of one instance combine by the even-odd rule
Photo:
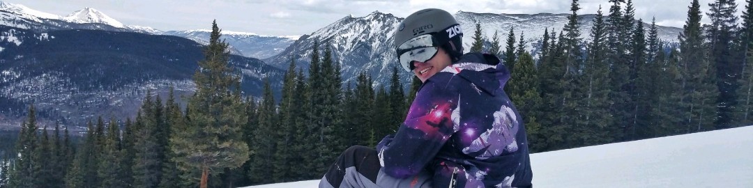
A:
<svg viewBox="0 0 753 188">
<path fill-rule="evenodd" d="M 733 51 L 733 39 L 736 37 L 734 32 L 737 30 L 737 5 L 734 0 L 715 0 L 709 7 L 711 9 L 706 15 L 712 23 L 703 29 L 706 29 L 706 41 L 710 43 L 708 60 L 715 65 L 712 68 L 715 68 L 717 73 L 716 86 L 719 95 L 715 102 L 718 107 L 718 119 L 714 125 L 716 129 L 724 129 L 729 128 L 733 122 L 733 113 L 737 105 L 736 91 L 739 88 L 737 80 L 739 69 L 742 68 L 740 61 L 736 60 L 736 52 Z"/>
</svg>

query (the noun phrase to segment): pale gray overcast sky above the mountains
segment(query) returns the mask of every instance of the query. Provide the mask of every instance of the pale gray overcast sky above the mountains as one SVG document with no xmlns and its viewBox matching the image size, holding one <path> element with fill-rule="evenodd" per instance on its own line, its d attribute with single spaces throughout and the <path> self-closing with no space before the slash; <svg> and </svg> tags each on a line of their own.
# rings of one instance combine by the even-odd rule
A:
<svg viewBox="0 0 753 188">
<path fill-rule="evenodd" d="M 163 31 L 211 29 L 212 20 L 225 31 L 259 35 L 304 35 L 352 14 L 364 17 L 373 11 L 407 17 L 423 8 L 450 13 L 469 11 L 494 14 L 569 13 L 569 0 L 0 0 L 26 5 L 37 11 L 66 16 L 85 7 L 102 11 L 126 25 L 150 26 Z M 662 26 L 682 27 L 691 0 L 633 0 L 636 19 Z M 703 22 L 713 0 L 700 0 Z M 745 0 L 736 0 L 738 15 Z M 581 0 L 578 14 L 596 14 L 608 0 Z"/>
</svg>

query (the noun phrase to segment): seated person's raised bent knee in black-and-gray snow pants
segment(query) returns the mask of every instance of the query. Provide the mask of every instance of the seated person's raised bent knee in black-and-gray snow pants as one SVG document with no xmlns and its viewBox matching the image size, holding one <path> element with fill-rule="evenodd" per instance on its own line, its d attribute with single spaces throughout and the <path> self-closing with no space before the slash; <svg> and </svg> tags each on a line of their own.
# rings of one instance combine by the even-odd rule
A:
<svg viewBox="0 0 753 188">
<path fill-rule="evenodd" d="M 377 186 L 380 168 L 377 150 L 352 146 L 337 157 L 319 181 L 319 187 L 380 187 Z"/>
</svg>

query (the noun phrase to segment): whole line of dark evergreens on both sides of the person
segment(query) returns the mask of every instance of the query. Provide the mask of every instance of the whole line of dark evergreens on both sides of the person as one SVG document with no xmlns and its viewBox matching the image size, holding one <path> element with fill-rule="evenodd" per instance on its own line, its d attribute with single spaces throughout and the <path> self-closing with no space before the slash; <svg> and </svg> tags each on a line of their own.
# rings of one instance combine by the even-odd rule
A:
<svg viewBox="0 0 753 188">
<path fill-rule="evenodd" d="M 559 33 L 545 30 L 539 54 L 511 28 L 487 53 L 511 69 L 505 87 L 523 115 L 533 153 L 633 141 L 751 123 L 753 1 L 740 26 L 736 5 L 717 0 L 700 23 L 697 0 L 678 40 L 658 37 L 635 20 L 631 0 L 610 0 L 584 40 L 578 1 Z M 485 49 L 480 24 L 471 51 Z M 35 109 L 14 153 L 0 163 L 0 187 L 234 187 L 322 177 L 346 147 L 373 147 L 404 120 L 419 89 L 404 92 L 398 69 L 389 86 L 361 73 L 345 83 L 328 44 L 315 42 L 308 71 L 290 62 L 275 99 L 266 80 L 261 99 L 243 97 L 227 66 L 227 44 L 212 35 L 194 74 L 197 92 L 182 108 L 172 95 L 149 93 L 134 120 L 100 117 L 81 144 L 56 127 L 40 131 Z M 516 40 L 518 37 L 520 38 Z M 534 55 L 538 58 L 534 58 Z M 46 130 L 43 129 L 43 130 Z M 56 156 L 56 157 L 49 157 Z"/>
</svg>

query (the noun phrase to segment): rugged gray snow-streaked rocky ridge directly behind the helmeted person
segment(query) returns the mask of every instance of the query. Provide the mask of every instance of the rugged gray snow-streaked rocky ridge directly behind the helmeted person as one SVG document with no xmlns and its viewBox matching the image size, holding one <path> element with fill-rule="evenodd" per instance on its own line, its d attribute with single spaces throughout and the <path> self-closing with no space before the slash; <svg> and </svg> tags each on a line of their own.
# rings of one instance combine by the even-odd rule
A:
<svg viewBox="0 0 753 188">
<path fill-rule="evenodd" d="M 491 41 L 494 32 L 498 32 L 500 41 L 504 43 L 512 26 L 516 39 L 523 32 L 528 50 L 537 53 L 544 29 L 561 32 L 562 27 L 568 22 L 569 14 L 478 14 L 459 11 L 454 16 L 465 33 L 463 46 L 466 52 L 471 48 L 475 23 L 479 22 L 487 41 Z M 578 17 L 581 38 L 587 41 L 590 39 L 588 34 L 595 17 L 595 14 Z M 346 83 L 355 80 L 359 72 L 366 71 L 378 86 L 388 83 L 390 74 L 386 73 L 397 63 L 392 47 L 392 33 L 401 20 L 403 18 L 379 11 L 365 17 L 344 17 L 310 35 L 303 35 L 288 49 L 264 61 L 278 68 L 286 68 L 290 58 L 294 57 L 298 66 L 308 68 L 314 41 L 320 41 L 319 49 L 331 47 L 334 59 L 343 66 L 343 79 Z M 644 24 L 648 28 L 649 24 Z M 677 35 L 681 32 L 681 29 L 674 27 L 659 26 L 658 29 L 660 37 L 669 42 L 676 41 Z M 501 45 L 505 47 L 505 44 Z M 401 74 L 401 80 L 404 83 L 409 81 L 410 74 Z"/>
</svg>

